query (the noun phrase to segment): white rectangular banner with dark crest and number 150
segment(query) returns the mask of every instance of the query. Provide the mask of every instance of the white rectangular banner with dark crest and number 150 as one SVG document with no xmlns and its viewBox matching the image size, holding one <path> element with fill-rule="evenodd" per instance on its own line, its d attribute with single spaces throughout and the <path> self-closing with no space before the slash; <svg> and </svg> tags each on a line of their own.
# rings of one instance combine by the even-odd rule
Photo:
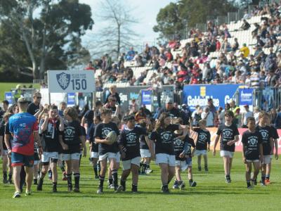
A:
<svg viewBox="0 0 281 211">
<path fill-rule="evenodd" d="M 92 70 L 48 70 L 48 91 L 50 93 L 96 91 L 94 72 Z"/>
</svg>

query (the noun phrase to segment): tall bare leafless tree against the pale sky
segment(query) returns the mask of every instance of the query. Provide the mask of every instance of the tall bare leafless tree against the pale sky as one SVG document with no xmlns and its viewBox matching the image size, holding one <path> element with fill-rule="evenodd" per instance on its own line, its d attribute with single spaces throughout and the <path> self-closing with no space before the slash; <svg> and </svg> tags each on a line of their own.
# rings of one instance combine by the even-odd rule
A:
<svg viewBox="0 0 281 211">
<path fill-rule="evenodd" d="M 134 46 L 138 34 L 131 30 L 131 26 L 137 24 L 138 20 L 131 15 L 133 9 L 125 6 L 122 0 L 100 1 L 99 8 L 97 16 L 107 24 L 93 36 L 95 39 L 87 46 L 92 55 L 115 52 L 115 58 L 118 58 L 121 51 L 125 50 L 124 43 L 126 46 Z"/>
</svg>

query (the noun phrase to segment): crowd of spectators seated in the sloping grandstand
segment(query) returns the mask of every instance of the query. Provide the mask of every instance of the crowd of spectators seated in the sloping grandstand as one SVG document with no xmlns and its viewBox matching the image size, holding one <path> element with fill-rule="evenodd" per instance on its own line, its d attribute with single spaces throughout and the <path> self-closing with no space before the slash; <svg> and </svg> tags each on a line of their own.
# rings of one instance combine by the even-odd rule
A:
<svg viewBox="0 0 281 211">
<path fill-rule="evenodd" d="M 172 40 L 166 44 L 145 46 L 143 52 L 131 49 L 122 53 L 116 62 L 105 54 L 94 60 L 93 70 L 102 72 L 96 84 L 102 89 L 105 82 L 128 82 L 130 85 L 173 84 L 182 89 L 184 84 L 245 84 L 249 87 L 280 87 L 281 85 L 281 18 L 280 5 L 256 6 L 251 13 L 245 12 L 242 25 L 237 30 L 250 30 L 247 20 L 255 15 L 262 16 L 260 23 L 254 23 L 251 31 L 256 44 L 239 44 L 237 37 L 233 43 L 228 41 L 232 32 L 228 25 L 207 23 L 207 32 L 195 29 L 190 31 L 190 39 L 185 46 L 181 40 Z M 250 50 L 251 49 L 251 50 Z M 268 49 L 269 53 L 265 53 Z M 218 52 L 212 58 L 212 52 Z M 136 78 L 126 62 L 133 61 L 136 67 L 147 67 Z M 89 66 L 87 69 L 89 69 Z M 148 80 L 149 70 L 155 73 Z"/>
</svg>

